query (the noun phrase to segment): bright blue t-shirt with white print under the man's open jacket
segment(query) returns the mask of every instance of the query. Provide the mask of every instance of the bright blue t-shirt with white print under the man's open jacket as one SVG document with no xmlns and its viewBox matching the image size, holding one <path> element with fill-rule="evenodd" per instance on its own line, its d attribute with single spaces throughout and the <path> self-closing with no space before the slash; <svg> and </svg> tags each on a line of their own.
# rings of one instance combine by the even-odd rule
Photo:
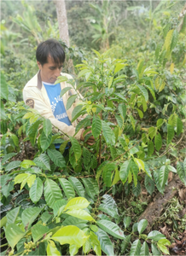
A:
<svg viewBox="0 0 186 256">
<path fill-rule="evenodd" d="M 55 116 L 55 119 L 67 124 L 71 125 L 71 121 L 67 116 L 67 111 L 65 109 L 64 103 L 62 101 L 61 94 L 61 85 L 60 84 L 48 84 L 43 82 L 44 87 L 49 96 L 49 102 L 52 109 L 52 113 Z M 60 148 L 61 144 L 55 144 L 55 148 Z"/>
</svg>

